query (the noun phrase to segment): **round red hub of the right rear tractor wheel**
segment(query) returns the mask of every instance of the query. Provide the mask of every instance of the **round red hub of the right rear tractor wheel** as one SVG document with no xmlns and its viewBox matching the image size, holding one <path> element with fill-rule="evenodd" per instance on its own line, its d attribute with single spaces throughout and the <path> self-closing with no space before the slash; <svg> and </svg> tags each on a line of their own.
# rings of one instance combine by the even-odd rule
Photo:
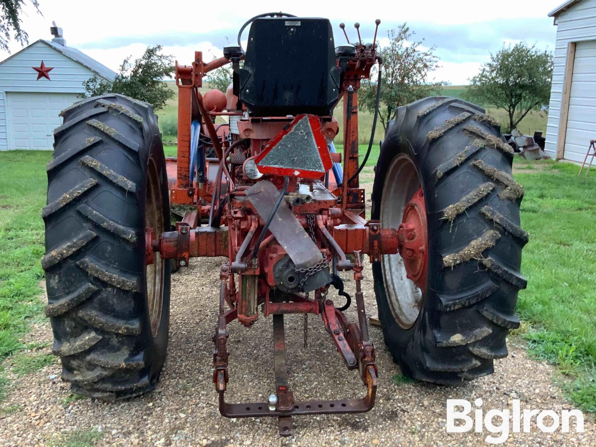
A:
<svg viewBox="0 0 596 447">
<path fill-rule="evenodd" d="M 422 188 L 403 210 L 402 224 L 398 228 L 399 255 L 403 258 L 406 276 L 424 292 L 428 273 L 428 234 L 426 204 Z"/>
</svg>

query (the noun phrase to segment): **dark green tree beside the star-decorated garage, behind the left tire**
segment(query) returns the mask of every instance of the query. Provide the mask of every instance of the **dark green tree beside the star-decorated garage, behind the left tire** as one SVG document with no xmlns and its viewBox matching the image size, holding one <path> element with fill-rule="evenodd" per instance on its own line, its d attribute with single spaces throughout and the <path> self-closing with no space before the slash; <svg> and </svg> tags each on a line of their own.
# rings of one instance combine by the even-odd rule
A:
<svg viewBox="0 0 596 447">
<path fill-rule="evenodd" d="M 83 82 L 88 98 L 107 93 L 120 93 L 135 100 L 145 101 L 159 109 L 166 105 L 167 100 L 174 97 L 172 89 L 168 88 L 164 77 L 172 77 L 174 72 L 173 56 L 160 54 L 162 45 L 149 46 L 143 55 L 131 63 L 127 57 L 120 65 L 119 73 L 114 82 L 108 82 L 93 76 Z"/>
</svg>

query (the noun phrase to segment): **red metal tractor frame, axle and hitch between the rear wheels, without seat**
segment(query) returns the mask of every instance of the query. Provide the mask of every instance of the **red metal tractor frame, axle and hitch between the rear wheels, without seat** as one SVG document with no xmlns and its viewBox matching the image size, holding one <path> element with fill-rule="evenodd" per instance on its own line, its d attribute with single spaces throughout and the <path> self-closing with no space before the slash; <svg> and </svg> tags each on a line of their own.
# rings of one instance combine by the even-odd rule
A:
<svg viewBox="0 0 596 447">
<path fill-rule="evenodd" d="M 380 21 L 377 21 L 377 27 Z M 375 32 L 376 37 L 376 32 Z M 213 125 L 216 116 L 242 116 L 242 110 L 218 110 L 206 107 L 199 88 L 203 85 L 203 77 L 212 70 L 225 66 L 230 61 L 219 58 L 209 63 L 203 61 L 203 54 L 195 52 L 195 60 L 190 66 L 176 63 L 176 86 L 178 86 L 178 157 L 167 160 L 167 171 L 170 185 L 170 200 L 172 203 L 195 206 L 195 210 L 187 211 L 182 222 L 176 224 L 176 231 L 166 232 L 153 240 L 147 238 L 148 256 L 153 250 L 159 251 L 164 259 L 175 259 L 179 265 L 188 265 L 189 257 L 197 256 L 228 256 L 229 262 L 221 269 L 220 316 L 216 327 L 213 381 L 220 396 L 220 411 L 227 417 L 280 417 L 280 434 L 291 433 L 292 415 L 365 412 L 373 408 L 377 388 L 377 367 L 374 363 L 374 347 L 368 336 L 367 317 L 364 309 L 364 299 L 361 292 L 362 256 L 368 255 L 371 260 L 378 260 L 381 254 L 396 253 L 399 246 L 400 232 L 395 229 L 380 228 L 378 221 L 365 220 L 365 195 L 359 188 L 359 151 L 358 151 L 358 89 L 362 79 L 370 77 L 371 68 L 377 63 L 378 55 L 374 46 L 365 46 L 361 42 L 355 45 L 355 55 L 350 58 L 344 72 L 342 89 L 339 97 L 344 97 L 343 120 L 343 175 L 350 179 L 337 186 L 335 178 L 331 181 L 330 168 L 315 179 L 292 178 L 287 191 L 300 194 L 302 190 L 313 191 L 321 188 L 327 177 L 327 185 L 335 185 L 330 189 L 326 200 L 313 198 L 308 203 L 293 205 L 293 212 L 304 228 L 313 231 L 313 240 L 324 253 L 325 263 L 337 257 L 337 269 L 352 270 L 356 281 L 356 305 L 358 306 L 358 324 L 349 323 L 341 311 L 334 307 L 334 303 L 327 299 L 327 287 L 315 290 L 313 296 L 308 294 L 288 294 L 287 300 L 277 302 L 272 291 L 275 280 L 272 272 L 275 264 L 287 252 L 275 239 L 274 234 L 268 233 L 259 244 L 259 262 L 246 262 L 247 253 L 252 253 L 257 238 L 257 229 L 265 224 L 255 213 L 253 207 L 246 200 L 247 187 L 240 179 L 234 177 L 229 169 L 235 188 L 229 188 L 227 207 L 221 222 L 225 226 L 213 229 L 212 226 L 197 226 L 202 216 L 209 214 L 213 198 L 213 189 L 218 187 L 215 182 L 209 182 L 202 187 L 190 183 L 190 154 L 191 154 L 191 121 L 193 120 L 193 104 L 200 111 L 201 126 L 213 142 L 217 160 L 209 160 L 207 170 L 215 170 L 221 164 L 224 154 L 228 154 L 234 141 L 222 141 Z M 215 92 L 209 92 L 210 95 Z M 209 105 L 212 105 L 211 103 Z M 338 132 L 336 120 L 331 116 L 310 116 L 318 123 L 315 131 L 321 136 L 333 138 Z M 271 120 L 258 118 L 243 118 L 238 122 L 238 128 L 243 129 L 235 141 L 242 137 L 248 139 L 253 154 L 259 154 L 262 148 L 275 138 L 280 139 L 284 128 L 294 121 L 294 117 L 272 117 Z M 287 132 L 287 131 L 285 131 Z M 232 148 L 233 149 L 233 148 Z M 325 145 L 327 150 L 327 145 Z M 233 154 L 232 154 L 233 156 Z M 334 162 L 339 162 L 339 154 L 331 154 Z M 233 163 L 233 162 L 232 162 Z M 265 170 L 263 170 L 265 171 Z M 283 185 L 283 176 L 288 175 L 287 169 L 271 169 L 268 178 L 275 185 Z M 174 175 L 175 174 L 175 175 Z M 209 173 L 207 173 L 209 176 Z M 218 177 L 216 177 L 218 178 Z M 306 187 L 306 188 L 305 188 Z M 326 188 L 327 189 L 327 188 Z M 291 196 L 290 196 L 291 197 Z M 316 197 L 316 196 L 315 196 Z M 202 200 L 201 200 L 202 199 Z M 204 203 L 204 204 L 203 204 Z M 247 212 L 247 208 L 250 212 Z M 309 216 L 316 215 L 309 221 Z M 421 221 L 417 224 L 420 226 Z M 314 228 L 313 228 L 314 226 Z M 410 238 L 414 239 L 417 229 L 415 224 L 408 227 Z M 152 230 L 148 229 L 152 232 Z M 153 234 L 153 233 L 151 233 Z M 153 250 L 151 250 L 153 249 Z M 421 253 L 421 252 L 417 252 Z M 352 255 L 352 256 L 350 256 Z M 348 260 L 348 256 L 350 259 Z M 420 263 L 424 264 L 424 256 L 418 255 Z M 150 261 L 148 261 L 150 262 Z M 258 278 L 256 287 L 256 302 L 247 302 L 245 285 L 239 278 Z M 242 286 L 239 285 L 242 284 Z M 227 309 L 226 309 L 227 305 Z M 273 315 L 274 324 L 274 356 L 275 356 L 275 384 L 277 403 L 275 409 L 269 408 L 269 402 L 260 403 L 226 403 L 224 393 L 228 382 L 228 339 L 226 325 L 238 319 L 242 324 L 250 326 L 259 315 L 257 306 L 264 305 L 264 316 Z M 294 401 L 293 393 L 288 389 L 285 366 L 284 343 L 284 315 L 288 313 L 312 313 L 321 315 L 325 329 L 330 333 L 333 342 L 350 370 L 358 369 L 362 376 L 367 395 L 362 399 L 342 399 L 336 401 Z"/>
</svg>

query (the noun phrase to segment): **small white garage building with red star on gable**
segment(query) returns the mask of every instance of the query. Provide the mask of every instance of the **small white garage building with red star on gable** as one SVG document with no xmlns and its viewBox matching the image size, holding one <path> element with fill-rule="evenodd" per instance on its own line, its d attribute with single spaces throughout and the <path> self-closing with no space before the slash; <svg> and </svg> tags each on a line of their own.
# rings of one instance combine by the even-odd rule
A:
<svg viewBox="0 0 596 447">
<path fill-rule="evenodd" d="M 96 75 L 114 80 L 108 67 L 66 46 L 62 29 L 0 62 L 0 151 L 52 150 L 61 110 L 78 100 L 83 82 Z"/>
</svg>

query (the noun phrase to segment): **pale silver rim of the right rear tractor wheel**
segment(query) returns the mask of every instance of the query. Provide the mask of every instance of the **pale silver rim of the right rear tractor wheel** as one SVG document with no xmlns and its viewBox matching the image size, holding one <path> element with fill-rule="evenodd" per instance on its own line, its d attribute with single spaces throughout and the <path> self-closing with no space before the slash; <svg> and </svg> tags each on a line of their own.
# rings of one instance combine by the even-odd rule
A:
<svg viewBox="0 0 596 447">
<path fill-rule="evenodd" d="M 383 185 L 381 195 L 380 221 L 382 228 L 394 228 L 398 230 L 402 224 L 414 224 L 417 229 L 417 237 L 424 237 L 425 248 L 427 244 L 426 236 L 426 210 L 424 218 L 421 217 L 421 209 L 426 208 L 424 198 L 420 203 L 420 198 L 412 204 L 412 199 L 416 199 L 417 193 L 420 194 L 421 182 L 418 177 L 414 162 L 405 154 L 399 154 L 392 160 Z M 404 222 L 404 215 L 406 222 Z M 423 228 L 421 228 L 423 227 Z M 423 229 L 423 231 L 422 231 Z M 403 230 L 400 231 L 403 233 Z M 423 235 L 424 234 L 424 235 Z M 414 260 L 417 265 L 418 275 L 427 275 L 427 262 Z M 411 328 L 422 309 L 423 289 L 408 278 L 412 277 L 412 259 L 402 257 L 400 253 L 384 254 L 381 256 L 381 269 L 383 271 L 383 281 L 387 294 L 389 308 L 398 324 L 404 328 Z M 426 281 L 426 280 L 425 280 Z M 422 285 L 420 281 L 417 281 Z"/>
</svg>

